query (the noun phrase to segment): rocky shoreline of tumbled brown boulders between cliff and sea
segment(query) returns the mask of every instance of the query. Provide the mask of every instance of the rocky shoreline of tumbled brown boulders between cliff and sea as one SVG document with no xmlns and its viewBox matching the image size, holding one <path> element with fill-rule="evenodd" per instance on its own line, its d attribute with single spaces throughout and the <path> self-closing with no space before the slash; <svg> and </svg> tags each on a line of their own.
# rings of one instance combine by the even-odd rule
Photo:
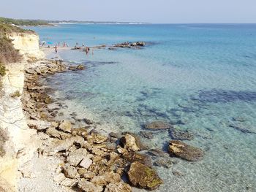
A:
<svg viewBox="0 0 256 192">
<path fill-rule="evenodd" d="M 95 129 L 88 119 L 83 126 L 67 119 L 56 120 L 61 107 L 49 108 L 54 101 L 47 94 L 50 88 L 39 83 L 40 78 L 59 72 L 77 71 L 84 66 L 67 66 L 61 61 L 42 60 L 27 65 L 22 102 L 29 128 L 37 131 L 41 145 L 37 149 L 39 157 L 54 158 L 59 162 L 53 171 L 56 185 L 74 191 L 132 191 L 132 187 L 154 190 L 163 183 L 157 172 L 151 168 L 173 164 L 170 155 L 187 161 L 197 161 L 203 151 L 180 141 L 170 141 L 169 153 L 159 149 L 148 149 L 140 141 L 140 136 L 124 132 L 110 133 L 108 137 Z M 79 123 L 80 125 L 80 123 Z M 151 131 L 174 130 L 163 122 L 153 122 L 146 126 Z M 176 131 L 183 139 L 191 135 Z M 140 153 L 146 151 L 146 153 Z M 152 161 L 151 156 L 157 156 Z M 124 182 L 125 181 L 125 182 Z"/>
</svg>

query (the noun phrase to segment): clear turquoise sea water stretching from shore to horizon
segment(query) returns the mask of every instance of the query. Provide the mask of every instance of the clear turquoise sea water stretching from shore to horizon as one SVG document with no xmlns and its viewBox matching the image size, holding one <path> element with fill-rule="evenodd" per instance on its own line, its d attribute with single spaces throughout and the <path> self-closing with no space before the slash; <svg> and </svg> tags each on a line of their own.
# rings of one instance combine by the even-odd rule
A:
<svg viewBox="0 0 256 192">
<path fill-rule="evenodd" d="M 91 115 L 105 132 L 138 133 L 152 120 L 192 131 L 195 139 L 185 142 L 206 151 L 203 161 L 176 158 L 170 169 L 155 167 L 165 182 L 157 191 L 256 191 L 256 25 L 32 29 L 54 44 L 147 42 L 141 50 L 102 49 L 89 56 L 60 51 L 61 58 L 87 69 L 56 74 L 47 83 L 70 112 Z M 157 131 L 144 142 L 166 150 L 170 139 Z"/>
</svg>

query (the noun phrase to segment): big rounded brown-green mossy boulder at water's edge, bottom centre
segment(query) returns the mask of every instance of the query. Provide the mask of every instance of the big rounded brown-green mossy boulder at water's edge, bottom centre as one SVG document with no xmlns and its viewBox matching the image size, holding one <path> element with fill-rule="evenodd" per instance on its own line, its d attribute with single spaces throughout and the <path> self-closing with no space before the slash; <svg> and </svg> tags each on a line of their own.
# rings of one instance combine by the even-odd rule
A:
<svg viewBox="0 0 256 192">
<path fill-rule="evenodd" d="M 140 162 L 134 162 L 131 164 L 128 177 L 129 181 L 135 187 L 145 188 L 148 190 L 157 189 L 159 185 L 163 183 L 154 169 L 140 164 Z"/>
</svg>

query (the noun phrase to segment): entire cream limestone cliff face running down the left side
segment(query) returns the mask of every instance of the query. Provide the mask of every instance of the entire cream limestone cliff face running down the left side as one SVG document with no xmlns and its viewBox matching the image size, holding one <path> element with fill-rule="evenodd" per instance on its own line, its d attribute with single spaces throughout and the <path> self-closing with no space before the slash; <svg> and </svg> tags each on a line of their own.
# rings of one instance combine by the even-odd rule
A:
<svg viewBox="0 0 256 192">
<path fill-rule="evenodd" d="M 39 50 L 37 34 L 12 33 L 8 37 L 26 60 L 44 57 Z M 0 96 L 0 128 L 7 131 L 9 139 L 4 145 L 6 154 L 0 156 L 0 191 L 18 191 L 18 170 L 24 162 L 29 161 L 36 148 L 37 132 L 27 126 L 20 96 L 11 96 L 15 91 L 20 94 L 23 92 L 26 60 L 7 64 L 7 74 L 1 78 L 3 94 Z"/>
</svg>

